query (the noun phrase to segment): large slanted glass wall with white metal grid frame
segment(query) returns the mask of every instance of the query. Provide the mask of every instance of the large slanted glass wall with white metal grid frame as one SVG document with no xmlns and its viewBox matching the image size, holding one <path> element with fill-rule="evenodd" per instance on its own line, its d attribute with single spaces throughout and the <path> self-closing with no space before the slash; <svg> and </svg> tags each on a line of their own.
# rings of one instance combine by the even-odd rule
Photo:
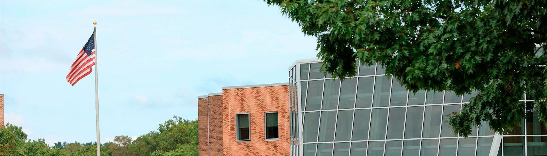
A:
<svg viewBox="0 0 547 156">
<path fill-rule="evenodd" d="M 307 59 L 296 61 L 289 69 L 289 83 L 296 85 L 290 95 L 298 97 L 290 98 L 291 110 L 298 107 L 290 116 L 291 124 L 298 124 L 295 131 L 292 126 L 291 133 L 298 131 L 294 136 L 299 136 L 294 139 L 299 146 L 291 146 L 291 155 L 468 156 L 490 152 L 494 133 L 487 122 L 474 128 L 468 138 L 456 136 L 443 122 L 446 114 L 460 111 L 473 95 L 412 94 L 392 76 L 386 76 L 380 65 L 358 65 L 358 76 L 343 82 L 324 76 L 320 67 L 321 61 Z M 533 116 L 533 112 L 527 113 Z M 537 118 L 528 120 L 532 122 L 524 119 L 526 126 L 520 133 L 513 130 L 503 135 L 503 146 L 494 141 L 493 146 L 500 146 L 498 155 L 547 153 L 543 123 Z"/>
</svg>

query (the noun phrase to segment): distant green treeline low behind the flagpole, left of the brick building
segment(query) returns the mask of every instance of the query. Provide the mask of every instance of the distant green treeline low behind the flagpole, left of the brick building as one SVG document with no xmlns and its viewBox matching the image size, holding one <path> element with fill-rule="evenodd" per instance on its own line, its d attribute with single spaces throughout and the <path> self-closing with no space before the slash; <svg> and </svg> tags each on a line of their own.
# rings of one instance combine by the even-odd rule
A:
<svg viewBox="0 0 547 156">
<path fill-rule="evenodd" d="M 97 155 L 95 142 L 56 142 L 49 146 L 44 139 L 27 140 L 21 127 L 6 124 L 0 129 L 0 155 Z M 131 140 L 116 136 L 101 144 L 101 155 L 197 155 L 197 119 L 174 116 L 158 130 Z"/>
</svg>

